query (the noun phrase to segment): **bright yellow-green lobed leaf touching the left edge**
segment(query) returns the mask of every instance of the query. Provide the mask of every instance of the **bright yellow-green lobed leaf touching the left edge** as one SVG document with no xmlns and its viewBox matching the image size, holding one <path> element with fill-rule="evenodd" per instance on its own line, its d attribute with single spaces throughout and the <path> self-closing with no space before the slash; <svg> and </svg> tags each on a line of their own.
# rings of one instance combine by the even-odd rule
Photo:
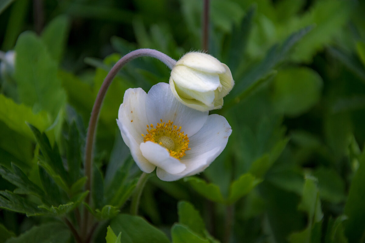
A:
<svg viewBox="0 0 365 243">
<path fill-rule="evenodd" d="M 33 139 L 33 134 L 26 122 L 37 126 L 41 131 L 45 131 L 51 124 L 49 115 L 45 111 L 34 114 L 30 107 L 17 104 L 3 94 L 0 94 L 0 104 L 0 120 L 12 130 L 28 138 Z"/>
</svg>

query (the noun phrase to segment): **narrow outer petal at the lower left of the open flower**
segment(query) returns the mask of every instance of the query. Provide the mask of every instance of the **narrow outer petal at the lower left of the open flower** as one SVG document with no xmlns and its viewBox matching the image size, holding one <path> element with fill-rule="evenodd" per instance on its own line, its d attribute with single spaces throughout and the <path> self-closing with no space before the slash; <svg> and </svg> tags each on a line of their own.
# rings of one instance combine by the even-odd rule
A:
<svg viewBox="0 0 365 243">
<path fill-rule="evenodd" d="M 122 122 L 116 120 L 120 133 L 122 134 L 123 141 L 126 143 L 128 148 L 131 150 L 133 160 L 136 162 L 141 171 L 151 173 L 156 168 L 154 164 L 151 164 L 145 157 L 143 157 L 141 149 L 139 149 L 139 143 L 135 141 L 131 133 L 124 127 Z"/>
</svg>

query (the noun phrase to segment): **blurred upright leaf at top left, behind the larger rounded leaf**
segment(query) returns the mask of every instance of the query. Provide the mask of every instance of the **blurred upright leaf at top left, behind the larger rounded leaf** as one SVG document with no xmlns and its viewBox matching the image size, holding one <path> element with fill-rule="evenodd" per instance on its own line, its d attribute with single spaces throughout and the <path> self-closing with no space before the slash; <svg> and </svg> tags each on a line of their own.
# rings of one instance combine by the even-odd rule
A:
<svg viewBox="0 0 365 243">
<path fill-rule="evenodd" d="M 66 16 L 55 17 L 43 30 L 42 40 L 54 60 L 59 63 L 62 58 L 69 31 L 69 19 Z"/>
</svg>

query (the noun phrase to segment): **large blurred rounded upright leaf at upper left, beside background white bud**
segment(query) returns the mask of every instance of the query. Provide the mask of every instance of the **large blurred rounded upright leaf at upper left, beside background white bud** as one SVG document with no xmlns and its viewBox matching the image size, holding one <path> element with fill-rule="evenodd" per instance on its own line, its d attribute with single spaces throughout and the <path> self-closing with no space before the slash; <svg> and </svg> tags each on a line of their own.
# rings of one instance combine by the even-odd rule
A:
<svg viewBox="0 0 365 243">
<path fill-rule="evenodd" d="M 20 101 L 33 111 L 48 111 L 55 119 L 65 105 L 66 94 L 57 79 L 57 64 L 46 46 L 32 32 L 19 36 L 15 46 L 15 79 Z"/>
</svg>

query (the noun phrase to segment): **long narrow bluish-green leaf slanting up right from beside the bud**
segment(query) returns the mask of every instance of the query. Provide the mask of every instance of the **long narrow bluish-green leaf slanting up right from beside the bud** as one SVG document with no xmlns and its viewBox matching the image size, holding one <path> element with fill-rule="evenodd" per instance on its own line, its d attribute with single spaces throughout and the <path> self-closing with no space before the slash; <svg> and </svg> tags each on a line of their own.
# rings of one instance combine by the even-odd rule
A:
<svg viewBox="0 0 365 243">
<path fill-rule="evenodd" d="M 310 30 L 312 30 L 312 26 L 303 28 L 302 30 L 292 34 L 280 46 L 274 45 L 270 48 L 265 58 L 260 63 L 255 64 L 255 66 L 247 68 L 245 72 L 238 74 L 238 77 L 235 77 L 235 87 L 230 94 L 227 95 L 226 102 L 231 102 L 234 99 L 239 98 L 245 93 L 245 90 L 255 86 L 255 83 L 272 75 L 273 68 L 283 62 L 292 50 L 293 46 L 295 46 L 295 44 Z"/>
</svg>

